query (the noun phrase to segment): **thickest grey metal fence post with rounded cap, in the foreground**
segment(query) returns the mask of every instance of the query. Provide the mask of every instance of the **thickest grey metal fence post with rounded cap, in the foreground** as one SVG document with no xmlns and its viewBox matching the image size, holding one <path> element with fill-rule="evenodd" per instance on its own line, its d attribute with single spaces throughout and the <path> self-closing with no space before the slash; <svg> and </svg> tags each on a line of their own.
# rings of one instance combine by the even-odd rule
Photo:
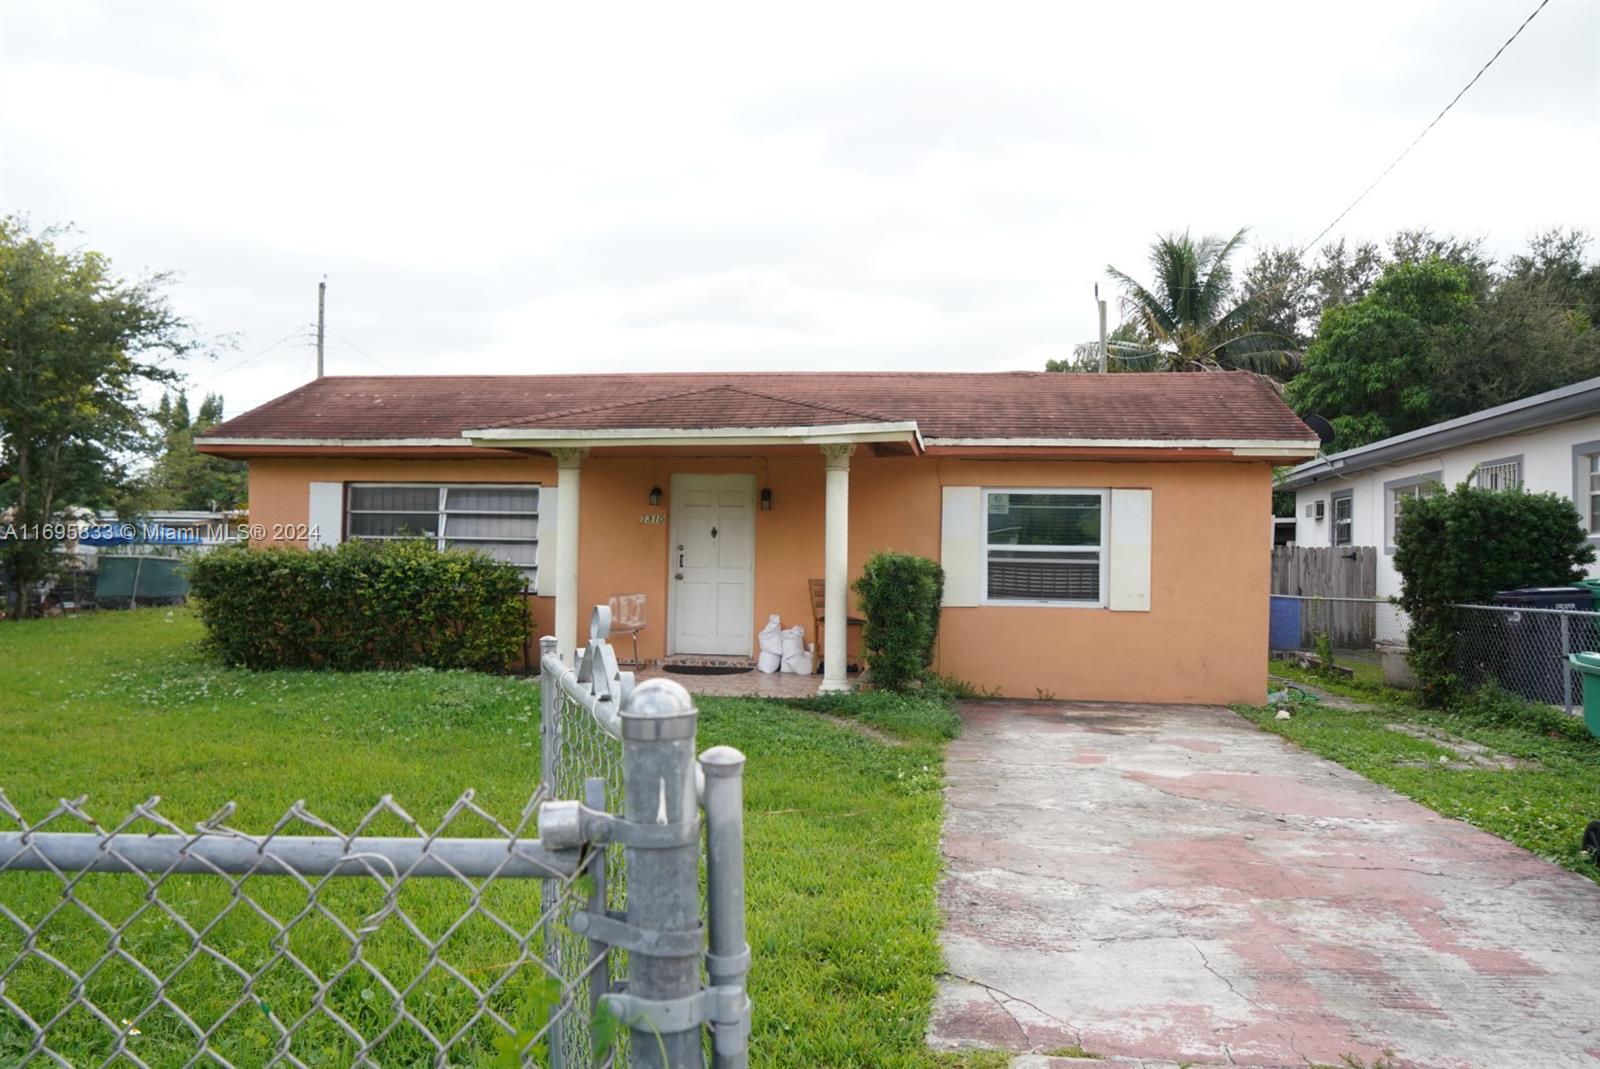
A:
<svg viewBox="0 0 1600 1069">
<path fill-rule="evenodd" d="M 666 679 L 622 706 L 622 835 L 629 888 L 627 995 L 634 1069 L 701 1069 L 699 800 L 690 693 Z M 648 891 L 645 890 L 648 888 Z M 685 954 L 685 947 L 696 949 Z"/>
</svg>

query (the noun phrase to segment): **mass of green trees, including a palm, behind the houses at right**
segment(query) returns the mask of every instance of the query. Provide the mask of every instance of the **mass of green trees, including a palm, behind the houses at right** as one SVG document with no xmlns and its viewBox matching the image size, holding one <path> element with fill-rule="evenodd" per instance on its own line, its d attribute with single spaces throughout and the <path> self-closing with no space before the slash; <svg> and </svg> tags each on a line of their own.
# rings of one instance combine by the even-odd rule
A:
<svg viewBox="0 0 1600 1069">
<path fill-rule="evenodd" d="M 1242 272 L 1230 238 L 1157 238 L 1154 282 L 1123 285 L 1112 371 L 1248 368 L 1325 416 L 1336 448 L 1600 376 L 1600 264 L 1589 235 L 1554 229 L 1496 262 L 1482 238 L 1398 230 L 1309 254 L 1266 246 Z M 1050 371 L 1090 371 L 1082 344 Z"/>
</svg>

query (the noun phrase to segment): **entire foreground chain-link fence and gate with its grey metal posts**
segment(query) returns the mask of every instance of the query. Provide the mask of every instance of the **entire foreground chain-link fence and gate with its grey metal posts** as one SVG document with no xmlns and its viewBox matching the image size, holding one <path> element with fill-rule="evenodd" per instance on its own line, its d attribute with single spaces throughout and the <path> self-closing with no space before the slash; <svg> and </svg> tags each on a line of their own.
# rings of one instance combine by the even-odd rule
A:
<svg viewBox="0 0 1600 1069">
<path fill-rule="evenodd" d="M 688 693 L 618 672 L 608 616 L 574 667 L 541 642 L 514 819 L 469 791 L 437 824 L 384 797 L 186 831 L 158 797 L 102 824 L 0 794 L 0 1066 L 678 1069 L 707 1027 L 746 1066 L 744 757 L 696 759 Z"/>
</svg>

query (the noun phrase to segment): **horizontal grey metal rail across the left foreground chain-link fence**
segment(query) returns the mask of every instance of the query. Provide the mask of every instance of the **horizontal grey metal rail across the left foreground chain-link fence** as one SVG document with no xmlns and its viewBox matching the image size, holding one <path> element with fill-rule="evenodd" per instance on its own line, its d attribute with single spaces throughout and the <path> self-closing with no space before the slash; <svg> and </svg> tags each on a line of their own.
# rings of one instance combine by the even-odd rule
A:
<svg viewBox="0 0 1600 1069">
<path fill-rule="evenodd" d="M 538 839 L 416 839 L 141 832 L 0 832 L 0 872 L 566 879 L 576 850 Z"/>
</svg>

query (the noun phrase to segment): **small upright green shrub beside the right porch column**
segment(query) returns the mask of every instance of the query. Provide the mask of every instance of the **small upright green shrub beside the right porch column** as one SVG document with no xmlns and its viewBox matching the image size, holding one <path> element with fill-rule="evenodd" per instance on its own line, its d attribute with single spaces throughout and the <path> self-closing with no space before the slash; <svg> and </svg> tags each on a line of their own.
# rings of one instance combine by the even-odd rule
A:
<svg viewBox="0 0 1600 1069">
<path fill-rule="evenodd" d="M 861 653 L 872 683 L 906 690 L 922 680 L 939 637 L 944 568 L 926 557 L 874 554 L 856 579 L 856 594 L 867 618 Z"/>
</svg>

